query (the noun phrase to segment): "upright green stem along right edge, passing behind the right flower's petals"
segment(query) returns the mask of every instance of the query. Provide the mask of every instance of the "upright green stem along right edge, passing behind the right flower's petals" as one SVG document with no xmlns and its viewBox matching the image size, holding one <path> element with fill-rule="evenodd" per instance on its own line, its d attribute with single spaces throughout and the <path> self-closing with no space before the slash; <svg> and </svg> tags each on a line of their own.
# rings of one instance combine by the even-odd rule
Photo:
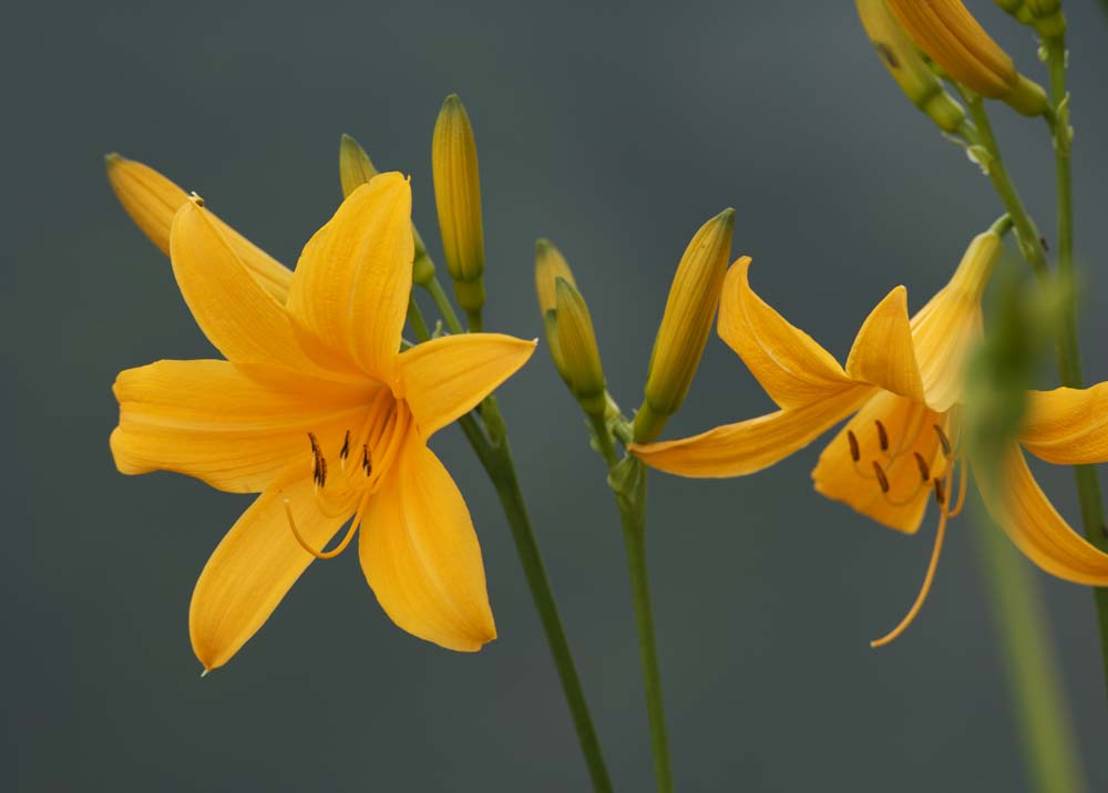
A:
<svg viewBox="0 0 1108 793">
<path fill-rule="evenodd" d="M 1066 37 L 1045 39 L 1047 69 L 1050 74 L 1050 104 L 1054 109 L 1054 162 L 1058 192 L 1058 277 L 1064 284 L 1075 284 L 1074 268 L 1074 199 L 1070 166 L 1069 96 L 1066 91 Z M 1085 387 L 1081 373 L 1081 353 L 1077 333 L 1077 290 L 1063 317 L 1058 343 L 1058 369 L 1061 384 L 1073 389 Z M 1077 495 L 1081 506 L 1081 523 L 1086 538 L 1101 550 L 1108 552 L 1108 532 L 1105 528 L 1104 498 L 1100 482 L 1092 465 L 1074 466 Z M 1097 621 L 1100 627 L 1100 655 L 1108 683 L 1108 588 L 1094 589 Z"/>
</svg>

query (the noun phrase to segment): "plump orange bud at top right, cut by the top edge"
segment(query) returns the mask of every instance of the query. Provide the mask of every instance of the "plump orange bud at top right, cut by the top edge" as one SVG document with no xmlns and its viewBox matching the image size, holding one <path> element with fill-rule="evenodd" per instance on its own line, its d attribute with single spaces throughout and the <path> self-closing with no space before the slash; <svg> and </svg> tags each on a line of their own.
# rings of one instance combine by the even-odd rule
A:
<svg viewBox="0 0 1108 793">
<path fill-rule="evenodd" d="M 889 8 L 920 49 L 966 87 L 1024 115 L 1049 107 L 1043 86 L 1016 71 L 962 0 L 889 0 Z"/>
</svg>

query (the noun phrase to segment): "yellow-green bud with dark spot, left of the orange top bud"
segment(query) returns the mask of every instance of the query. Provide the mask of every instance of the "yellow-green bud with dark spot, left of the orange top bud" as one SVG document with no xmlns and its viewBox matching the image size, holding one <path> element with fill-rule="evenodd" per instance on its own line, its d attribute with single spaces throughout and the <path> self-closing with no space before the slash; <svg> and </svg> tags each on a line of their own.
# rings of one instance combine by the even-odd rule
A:
<svg viewBox="0 0 1108 793">
<path fill-rule="evenodd" d="M 854 0 L 858 16 L 881 62 L 916 107 L 946 132 L 957 132 L 965 111 L 931 71 L 885 0 Z"/>
</svg>

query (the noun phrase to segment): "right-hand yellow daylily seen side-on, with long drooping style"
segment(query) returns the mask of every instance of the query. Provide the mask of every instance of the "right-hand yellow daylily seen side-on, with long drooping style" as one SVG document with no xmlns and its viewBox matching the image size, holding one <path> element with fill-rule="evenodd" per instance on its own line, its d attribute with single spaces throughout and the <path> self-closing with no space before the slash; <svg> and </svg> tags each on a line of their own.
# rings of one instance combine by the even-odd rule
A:
<svg viewBox="0 0 1108 793">
<path fill-rule="evenodd" d="M 999 253 L 996 233 L 977 236 L 950 284 L 911 319 L 906 290 L 893 289 L 863 322 L 845 367 L 750 288 L 750 259 L 739 259 L 727 275 L 719 336 L 780 410 L 694 437 L 633 444 L 632 452 L 652 467 L 684 476 L 741 476 L 783 460 L 853 414 L 820 455 L 812 472 L 815 490 L 905 534 L 919 529 L 929 501 L 938 506 L 920 595 L 901 624 L 873 646 L 888 643 L 923 605 L 947 519 L 965 498 L 968 468 L 958 443 L 962 372 L 982 332 L 981 298 Z M 1019 447 L 1065 465 L 1108 461 L 1108 383 L 1032 391 L 1028 403 L 1019 445 L 1004 456 L 1004 487 L 981 488 L 986 506 L 1047 573 L 1108 586 L 1108 555 L 1057 513 Z"/>
</svg>

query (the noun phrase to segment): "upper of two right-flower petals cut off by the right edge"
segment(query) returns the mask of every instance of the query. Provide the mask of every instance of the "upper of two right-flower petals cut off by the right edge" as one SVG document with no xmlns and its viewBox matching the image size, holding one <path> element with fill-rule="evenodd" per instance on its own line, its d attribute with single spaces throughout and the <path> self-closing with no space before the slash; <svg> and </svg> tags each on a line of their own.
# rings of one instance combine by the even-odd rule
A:
<svg viewBox="0 0 1108 793">
<path fill-rule="evenodd" d="M 1029 391 L 1019 442 L 1059 465 L 1108 462 L 1108 383 Z"/>
</svg>

